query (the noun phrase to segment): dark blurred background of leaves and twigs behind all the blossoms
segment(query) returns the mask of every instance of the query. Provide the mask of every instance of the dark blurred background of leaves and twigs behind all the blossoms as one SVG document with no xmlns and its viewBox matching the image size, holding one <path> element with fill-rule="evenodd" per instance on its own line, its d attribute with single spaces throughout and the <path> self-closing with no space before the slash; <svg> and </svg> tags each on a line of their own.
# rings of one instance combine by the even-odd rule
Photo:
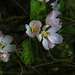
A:
<svg viewBox="0 0 75 75">
<path fill-rule="evenodd" d="M 46 51 L 36 38 L 25 34 L 25 24 L 31 20 L 44 22 L 53 1 L 45 5 L 38 0 L 0 0 L 0 30 L 12 35 L 17 45 L 9 62 L 0 61 L 0 75 L 75 75 L 75 0 L 59 0 L 62 44 Z"/>
</svg>

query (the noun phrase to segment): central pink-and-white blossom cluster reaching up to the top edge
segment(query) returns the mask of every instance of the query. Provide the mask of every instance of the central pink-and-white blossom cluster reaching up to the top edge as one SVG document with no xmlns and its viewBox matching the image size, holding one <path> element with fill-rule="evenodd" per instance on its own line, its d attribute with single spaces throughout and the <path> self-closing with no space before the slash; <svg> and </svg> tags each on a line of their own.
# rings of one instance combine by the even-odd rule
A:
<svg viewBox="0 0 75 75">
<path fill-rule="evenodd" d="M 43 2 L 43 0 L 39 1 Z M 45 1 L 48 2 L 49 0 Z M 42 41 L 42 45 L 46 50 L 54 48 L 56 44 L 60 44 L 63 41 L 63 37 L 57 33 L 62 27 L 60 19 L 57 18 L 60 15 L 58 11 L 60 5 L 57 4 L 57 1 L 51 3 L 53 11 L 47 15 L 46 25 L 43 26 L 41 21 L 36 20 L 32 20 L 29 25 L 25 25 L 26 34 L 32 38 L 37 37 L 39 41 Z"/>
</svg>

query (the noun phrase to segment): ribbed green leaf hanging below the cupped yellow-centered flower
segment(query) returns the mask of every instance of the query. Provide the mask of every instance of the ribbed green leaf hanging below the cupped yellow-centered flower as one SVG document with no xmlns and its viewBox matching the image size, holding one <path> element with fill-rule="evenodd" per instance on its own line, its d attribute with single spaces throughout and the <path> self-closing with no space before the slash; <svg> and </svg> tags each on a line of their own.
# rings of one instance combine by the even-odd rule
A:
<svg viewBox="0 0 75 75">
<path fill-rule="evenodd" d="M 36 44 L 36 40 L 30 38 L 25 39 L 22 43 L 23 52 L 21 54 L 21 60 L 26 65 L 32 64 L 37 58 L 38 47 Z"/>
</svg>

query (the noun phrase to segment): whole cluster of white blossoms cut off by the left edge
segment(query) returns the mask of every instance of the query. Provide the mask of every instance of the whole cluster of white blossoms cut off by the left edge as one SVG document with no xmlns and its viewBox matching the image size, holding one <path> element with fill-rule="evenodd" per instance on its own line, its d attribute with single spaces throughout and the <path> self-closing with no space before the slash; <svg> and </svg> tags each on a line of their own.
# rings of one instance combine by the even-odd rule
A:
<svg viewBox="0 0 75 75">
<path fill-rule="evenodd" d="M 0 60 L 7 62 L 9 60 L 10 54 L 16 49 L 16 45 L 11 44 L 13 41 L 12 36 L 10 35 L 3 35 L 2 31 L 0 31 Z"/>
</svg>

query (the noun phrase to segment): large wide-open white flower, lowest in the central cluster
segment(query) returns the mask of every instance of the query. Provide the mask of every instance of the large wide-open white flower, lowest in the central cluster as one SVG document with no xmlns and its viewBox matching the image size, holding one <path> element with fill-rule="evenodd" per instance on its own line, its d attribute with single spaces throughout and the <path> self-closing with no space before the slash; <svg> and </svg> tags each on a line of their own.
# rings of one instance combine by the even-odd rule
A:
<svg viewBox="0 0 75 75">
<path fill-rule="evenodd" d="M 46 50 L 53 48 L 55 44 L 60 44 L 63 41 L 63 37 L 57 34 L 54 28 L 50 28 L 47 31 L 43 30 L 37 38 L 39 41 L 43 39 L 42 45 Z"/>
</svg>

